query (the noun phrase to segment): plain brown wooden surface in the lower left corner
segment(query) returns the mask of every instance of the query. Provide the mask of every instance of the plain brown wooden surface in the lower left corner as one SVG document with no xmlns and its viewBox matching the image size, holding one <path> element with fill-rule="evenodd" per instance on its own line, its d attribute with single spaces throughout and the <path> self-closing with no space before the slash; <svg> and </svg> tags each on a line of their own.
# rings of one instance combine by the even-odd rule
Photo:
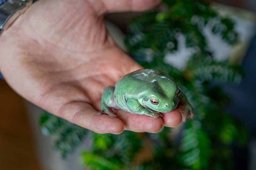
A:
<svg viewBox="0 0 256 170">
<path fill-rule="evenodd" d="M 0 79 L 0 169 L 41 170 L 22 98 Z"/>
</svg>

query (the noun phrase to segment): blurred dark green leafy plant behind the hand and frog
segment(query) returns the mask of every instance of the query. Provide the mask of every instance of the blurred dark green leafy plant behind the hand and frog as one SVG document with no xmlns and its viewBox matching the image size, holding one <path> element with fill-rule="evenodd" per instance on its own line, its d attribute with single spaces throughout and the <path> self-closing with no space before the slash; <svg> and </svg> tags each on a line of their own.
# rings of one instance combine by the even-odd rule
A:
<svg viewBox="0 0 256 170">
<path fill-rule="evenodd" d="M 198 0 L 164 0 L 164 11 L 151 11 L 132 20 L 125 44 L 128 53 L 145 68 L 168 73 L 191 102 L 197 116 L 173 135 L 171 128 L 159 133 L 96 134 L 44 113 L 40 120 L 46 135 L 57 136 L 54 148 L 63 158 L 72 153 L 88 134 L 92 150 L 81 162 L 90 170 L 224 170 L 235 167 L 231 146 L 244 147 L 248 134 L 243 124 L 223 112 L 228 97 L 220 84 L 239 83 L 241 70 L 228 60 L 214 60 L 202 33 L 207 24 L 212 33 L 229 45 L 238 41 L 234 22 L 220 17 Z M 164 56 L 178 50 L 178 36 L 194 48 L 186 68 L 164 63 Z"/>
</svg>

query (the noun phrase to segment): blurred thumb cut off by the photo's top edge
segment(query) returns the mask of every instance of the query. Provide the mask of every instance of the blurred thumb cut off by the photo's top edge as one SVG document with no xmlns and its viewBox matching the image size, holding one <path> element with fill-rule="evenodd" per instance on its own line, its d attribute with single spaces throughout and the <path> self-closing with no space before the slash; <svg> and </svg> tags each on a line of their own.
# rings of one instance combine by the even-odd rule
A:
<svg viewBox="0 0 256 170">
<path fill-rule="evenodd" d="M 101 0 L 107 12 L 118 11 L 143 11 L 153 8 L 160 3 L 161 0 Z"/>
</svg>

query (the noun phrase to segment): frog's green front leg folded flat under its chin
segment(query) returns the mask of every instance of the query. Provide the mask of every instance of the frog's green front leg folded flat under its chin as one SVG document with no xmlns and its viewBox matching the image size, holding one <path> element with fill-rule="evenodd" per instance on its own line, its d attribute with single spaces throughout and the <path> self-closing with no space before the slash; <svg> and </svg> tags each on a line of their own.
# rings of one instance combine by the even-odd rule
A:
<svg viewBox="0 0 256 170">
<path fill-rule="evenodd" d="M 159 116 L 162 116 L 161 113 L 146 109 L 143 106 L 140 105 L 139 101 L 136 99 L 128 99 L 126 102 L 126 106 L 130 109 L 130 111 L 134 114 L 138 115 L 148 115 L 154 118 L 157 118 Z"/>
</svg>

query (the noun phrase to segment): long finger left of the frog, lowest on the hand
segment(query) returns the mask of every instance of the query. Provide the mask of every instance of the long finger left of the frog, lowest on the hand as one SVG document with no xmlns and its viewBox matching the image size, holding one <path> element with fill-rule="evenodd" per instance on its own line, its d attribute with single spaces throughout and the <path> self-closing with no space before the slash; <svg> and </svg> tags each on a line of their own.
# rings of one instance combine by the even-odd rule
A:
<svg viewBox="0 0 256 170">
<path fill-rule="evenodd" d="M 90 104 L 82 101 L 75 101 L 65 104 L 60 108 L 59 114 L 69 122 L 92 130 L 96 133 L 120 134 L 124 131 L 121 120 L 105 114 L 97 115 Z"/>
</svg>

